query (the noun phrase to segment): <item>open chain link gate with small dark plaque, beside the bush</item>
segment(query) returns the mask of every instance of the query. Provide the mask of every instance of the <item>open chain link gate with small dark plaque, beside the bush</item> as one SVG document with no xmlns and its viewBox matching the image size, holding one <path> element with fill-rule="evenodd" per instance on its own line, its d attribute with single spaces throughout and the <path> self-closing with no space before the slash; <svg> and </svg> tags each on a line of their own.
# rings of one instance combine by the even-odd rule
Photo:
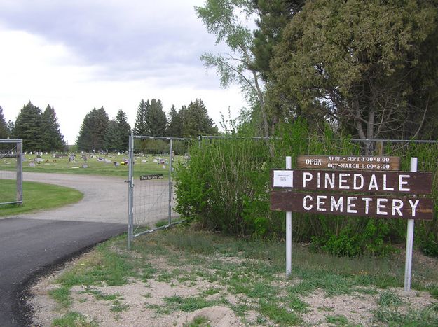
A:
<svg viewBox="0 0 438 327">
<path fill-rule="evenodd" d="M 191 139 L 130 135 L 128 249 L 136 237 L 181 222 L 174 211 L 172 164 L 188 151 L 189 141 Z"/>
</svg>

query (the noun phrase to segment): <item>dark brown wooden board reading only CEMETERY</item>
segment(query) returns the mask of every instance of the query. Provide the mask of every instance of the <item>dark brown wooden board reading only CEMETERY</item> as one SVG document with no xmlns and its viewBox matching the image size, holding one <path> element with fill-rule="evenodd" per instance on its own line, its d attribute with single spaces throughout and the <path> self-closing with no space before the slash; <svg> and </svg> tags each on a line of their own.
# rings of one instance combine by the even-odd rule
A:
<svg viewBox="0 0 438 327">
<path fill-rule="evenodd" d="M 271 210 L 375 218 L 433 219 L 429 197 L 271 192 Z"/>
</svg>

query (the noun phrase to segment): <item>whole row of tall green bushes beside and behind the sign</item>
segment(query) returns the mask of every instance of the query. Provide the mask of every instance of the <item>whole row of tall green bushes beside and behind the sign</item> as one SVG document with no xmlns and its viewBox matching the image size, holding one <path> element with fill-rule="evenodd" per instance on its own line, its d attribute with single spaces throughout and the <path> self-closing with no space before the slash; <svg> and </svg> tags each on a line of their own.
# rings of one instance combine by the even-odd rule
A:
<svg viewBox="0 0 438 327">
<path fill-rule="evenodd" d="M 236 235 L 283 237 L 285 214 L 269 209 L 270 171 L 285 167 L 285 156 L 296 155 L 360 155 L 360 145 L 348 137 L 339 139 L 327 127 L 324 133 L 309 132 L 306 121 L 296 120 L 278 130 L 271 141 L 274 155 L 265 141 L 226 137 L 203 141 L 190 151 L 191 160 L 177 168 L 177 210 L 197 218 L 206 228 Z M 409 170 L 409 158 L 418 157 L 418 171 L 434 172 L 435 212 L 438 200 L 438 145 L 386 144 L 385 155 L 399 155 L 402 170 Z M 331 216 L 294 213 L 294 239 L 313 242 L 340 256 L 369 253 L 386 256 L 392 243 L 403 242 L 406 221 L 368 217 Z M 438 254 L 438 222 L 416 223 L 416 237 L 428 254 Z"/>
</svg>

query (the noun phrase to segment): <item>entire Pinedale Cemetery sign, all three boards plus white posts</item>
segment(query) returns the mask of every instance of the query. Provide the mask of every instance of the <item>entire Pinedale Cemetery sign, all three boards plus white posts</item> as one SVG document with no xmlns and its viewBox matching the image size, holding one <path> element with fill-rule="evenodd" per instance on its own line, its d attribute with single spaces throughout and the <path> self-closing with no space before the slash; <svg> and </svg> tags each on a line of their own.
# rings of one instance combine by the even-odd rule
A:
<svg viewBox="0 0 438 327">
<path fill-rule="evenodd" d="M 297 167 L 301 169 L 291 169 L 291 157 L 286 157 L 286 169 L 272 169 L 271 210 L 286 211 L 286 274 L 291 274 L 292 270 L 292 211 L 374 218 L 406 218 L 408 223 L 404 291 L 410 291 L 414 221 L 434 218 L 433 199 L 416 196 L 432 193 L 432 172 L 417 172 L 417 161 L 417 158 L 411 158 L 410 172 L 389 172 L 399 170 L 398 157 L 298 155 Z M 361 171 L 361 168 L 368 171 Z M 355 169 L 356 172 L 336 169 Z M 381 170 L 387 171 L 380 172 Z M 381 188 L 378 187 L 379 181 Z M 282 191 L 275 188 L 282 188 Z M 327 193 L 327 190 L 335 193 Z M 351 194 L 352 191 L 354 193 L 382 192 L 390 195 L 356 195 Z"/>
</svg>

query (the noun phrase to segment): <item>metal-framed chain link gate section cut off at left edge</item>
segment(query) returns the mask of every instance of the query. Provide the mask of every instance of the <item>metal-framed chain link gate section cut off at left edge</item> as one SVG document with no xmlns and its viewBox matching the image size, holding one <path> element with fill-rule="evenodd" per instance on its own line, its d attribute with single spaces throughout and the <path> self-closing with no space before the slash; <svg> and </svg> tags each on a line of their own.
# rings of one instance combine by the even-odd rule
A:
<svg viewBox="0 0 438 327">
<path fill-rule="evenodd" d="M 0 204 L 22 204 L 22 140 L 0 139 Z"/>
</svg>

